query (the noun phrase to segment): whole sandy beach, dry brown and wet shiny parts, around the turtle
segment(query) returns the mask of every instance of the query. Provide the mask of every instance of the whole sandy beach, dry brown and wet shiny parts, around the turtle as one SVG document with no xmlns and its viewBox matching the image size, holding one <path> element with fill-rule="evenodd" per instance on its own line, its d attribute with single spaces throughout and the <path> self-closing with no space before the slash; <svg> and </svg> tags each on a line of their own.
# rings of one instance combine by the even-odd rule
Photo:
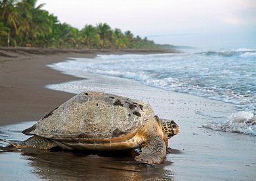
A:
<svg viewBox="0 0 256 181">
<path fill-rule="evenodd" d="M 170 92 L 133 80 L 86 73 L 87 79 L 46 65 L 68 57 L 153 51 L 63 51 L 0 48 L 0 136 L 24 140 L 24 128 L 74 94 L 49 90 L 48 84 L 84 81 L 84 90 L 110 92 L 150 101 L 155 113 L 175 120 L 181 132 L 169 140 L 172 152 L 157 166 L 134 164 L 134 151 L 81 153 L 4 149 L 0 142 L 0 180 L 255 180 L 255 137 L 203 128 L 206 120 L 226 119 L 233 104 Z M 163 53 L 163 52 L 159 52 Z"/>
</svg>

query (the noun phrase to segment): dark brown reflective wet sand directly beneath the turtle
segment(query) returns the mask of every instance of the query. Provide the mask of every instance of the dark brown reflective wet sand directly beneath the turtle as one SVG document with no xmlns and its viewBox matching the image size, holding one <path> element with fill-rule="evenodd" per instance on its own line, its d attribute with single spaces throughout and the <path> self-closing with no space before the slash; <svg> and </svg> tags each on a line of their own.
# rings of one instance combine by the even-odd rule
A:
<svg viewBox="0 0 256 181">
<path fill-rule="evenodd" d="M 0 148 L 1 150 L 3 151 L 3 148 Z M 5 150 L 0 155 L 7 156 L 9 151 Z M 13 154 L 20 154 L 20 158 L 16 159 L 23 159 L 26 162 L 25 165 L 20 166 L 32 167 L 32 174 L 39 180 L 173 180 L 174 178 L 172 172 L 164 169 L 165 166 L 170 165 L 169 161 L 156 166 L 138 165 L 133 161 L 137 154 L 134 151 L 84 153 L 22 149 Z M 17 160 L 16 163 L 19 161 Z"/>
</svg>

